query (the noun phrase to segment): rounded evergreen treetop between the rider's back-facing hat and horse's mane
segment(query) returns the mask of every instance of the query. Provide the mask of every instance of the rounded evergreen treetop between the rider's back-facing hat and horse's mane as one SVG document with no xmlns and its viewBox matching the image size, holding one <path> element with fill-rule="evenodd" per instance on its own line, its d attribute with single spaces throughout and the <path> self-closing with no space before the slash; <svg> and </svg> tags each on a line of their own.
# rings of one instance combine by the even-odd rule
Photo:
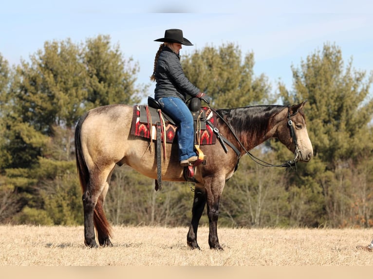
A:
<svg viewBox="0 0 373 279">
<path fill-rule="evenodd" d="M 188 79 L 212 97 L 214 107 L 232 108 L 273 101 L 270 101 L 268 78 L 264 74 L 254 77 L 254 54 L 247 53 L 242 59 L 240 48 L 234 44 L 218 49 L 206 46 L 183 56 L 182 64 Z"/>
</svg>

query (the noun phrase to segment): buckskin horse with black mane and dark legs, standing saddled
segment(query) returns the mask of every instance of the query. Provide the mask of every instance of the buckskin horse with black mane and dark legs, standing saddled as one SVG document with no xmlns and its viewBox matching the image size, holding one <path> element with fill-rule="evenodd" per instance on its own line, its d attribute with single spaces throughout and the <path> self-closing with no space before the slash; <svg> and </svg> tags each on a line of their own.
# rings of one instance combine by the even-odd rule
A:
<svg viewBox="0 0 373 279">
<path fill-rule="evenodd" d="M 210 249 L 223 250 L 217 234 L 219 203 L 225 182 L 237 169 L 240 157 L 270 138 L 277 138 L 294 155 L 296 162 L 308 162 L 313 155 L 303 106 L 255 105 L 214 110 L 219 137 L 230 144 L 201 145 L 205 164 L 195 167 L 192 218 L 187 246 L 200 249 L 197 230 L 205 205 L 209 221 Z M 104 213 L 105 196 L 115 166 L 124 164 L 135 171 L 157 178 L 157 159 L 149 151 L 149 140 L 130 133 L 133 105 L 114 104 L 93 108 L 82 115 L 75 128 L 75 157 L 82 188 L 84 243 L 89 247 L 112 246 L 112 227 Z M 185 182 L 178 160 L 177 143 L 166 143 L 162 179 Z M 224 150 L 225 149 L 225 150 Z"/>
</svg>

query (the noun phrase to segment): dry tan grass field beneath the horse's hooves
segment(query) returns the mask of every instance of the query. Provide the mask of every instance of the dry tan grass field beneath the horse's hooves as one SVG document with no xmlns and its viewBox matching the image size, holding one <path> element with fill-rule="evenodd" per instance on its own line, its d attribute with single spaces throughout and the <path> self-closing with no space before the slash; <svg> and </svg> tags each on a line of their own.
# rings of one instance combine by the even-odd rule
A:
<svg viewBox="0 0 373 279">
<path fill-rule="evenodd" d="M 224 251 L 186 245 L 186 227 L 113 227 L 114 247 L 87 248 L 83 227 L 0 226 L 0 266 L 372 266 L 372 229 L 218 228 Z"/>
</svg>

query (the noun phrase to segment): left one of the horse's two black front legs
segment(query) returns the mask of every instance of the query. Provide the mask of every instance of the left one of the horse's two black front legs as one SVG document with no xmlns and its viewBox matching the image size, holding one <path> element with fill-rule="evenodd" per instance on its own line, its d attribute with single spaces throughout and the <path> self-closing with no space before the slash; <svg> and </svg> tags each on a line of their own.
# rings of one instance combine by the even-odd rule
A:
<svg viewBox="0 0 373 279">
<path fill-rule="evenodd" d="M 192 208 L 192 221 L 189 227 L 189 231 L 186 237 L 188 246 L 192 249 L 200 249 L 197 244 L 197 230 L 200 222 L 202 213 L 206 204 L 206 193 L 205 189 L 196 188 L 194 191 L 194 200 Z"/>
</svg>

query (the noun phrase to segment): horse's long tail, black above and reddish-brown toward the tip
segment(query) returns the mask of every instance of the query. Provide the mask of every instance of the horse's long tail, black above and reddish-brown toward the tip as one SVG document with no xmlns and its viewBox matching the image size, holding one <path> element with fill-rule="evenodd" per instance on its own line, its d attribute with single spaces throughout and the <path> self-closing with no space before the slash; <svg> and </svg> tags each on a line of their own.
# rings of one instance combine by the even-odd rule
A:
<svg viewBox="0 0 373 279">
<path fill-rule="evenodd" d="M 82 145 L 80 141 L 81 128 L 84 120 L 87 118 L 88 113 L 84 114 L 76 124 L 75 128 L 75 159 L 76 159 L 76 169 L 79 176 L 80 187 L 84 193 L 87 189 L 87 185 L 90 179 L 90 173 L 87 164 L 84 160 Z M 93 223 L 96 227 L 99 235 L 111 236 L 111 226 L 109 221 L 106 219 L 104 209 L 102 207 L 100 199 L 97 200 L 96 206 L 93 213 Z"/>
</svg>

